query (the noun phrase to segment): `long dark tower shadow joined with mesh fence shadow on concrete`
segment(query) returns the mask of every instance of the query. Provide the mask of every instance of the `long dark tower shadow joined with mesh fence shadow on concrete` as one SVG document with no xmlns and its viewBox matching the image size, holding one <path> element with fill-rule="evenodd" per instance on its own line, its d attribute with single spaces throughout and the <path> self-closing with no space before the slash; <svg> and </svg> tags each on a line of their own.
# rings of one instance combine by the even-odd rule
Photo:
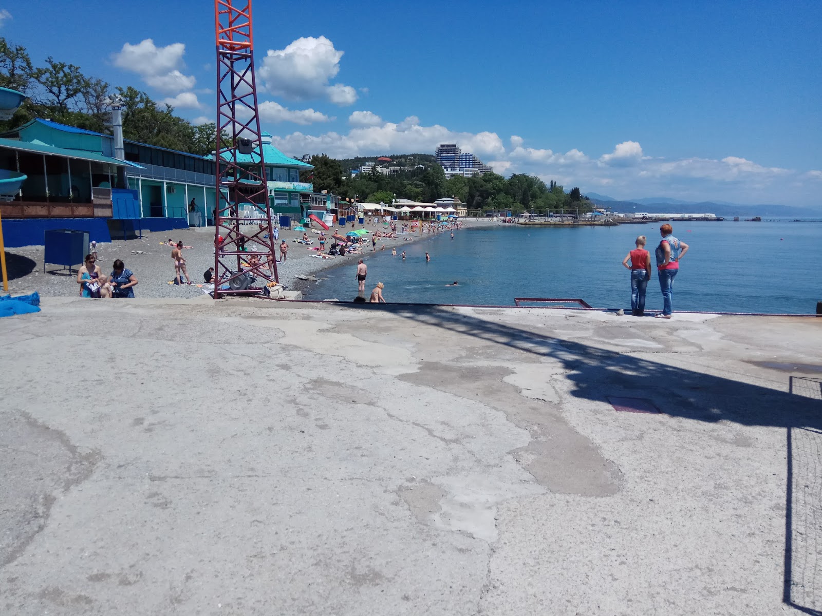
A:
<svg viewBox="0 0 822 616">
<path fill-rule="evenodd" d="M 524 353 L 561 361 L 576 398 L 608 403 L 607 396 L 649 398 L 670 416 L 715 423 L 764 425 L 787 431 L 785 582 L 783 601 L 822 616 L 822 401 L 761 385 L 708 375 L 580 342 L 553 338 L 440 306 L 339 304 L 381 310 L 418 324 L 447 329 Z M 801 438 L 800 438 L 801 437 Z"/>
</svg>

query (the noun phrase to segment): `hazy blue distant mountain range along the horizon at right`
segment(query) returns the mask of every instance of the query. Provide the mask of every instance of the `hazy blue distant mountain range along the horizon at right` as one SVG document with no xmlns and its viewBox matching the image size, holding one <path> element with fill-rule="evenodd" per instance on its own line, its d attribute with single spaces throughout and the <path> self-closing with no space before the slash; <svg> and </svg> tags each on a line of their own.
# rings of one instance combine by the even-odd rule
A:
<svg viewBox="0 0 822 616">
<path fill-rule="evenodd" d="M 801 208 L 793 205 L 745 205 L 729 201 L 683 201 L 669 197 L 643 197 L 621 201 L 595 192 L 585 193 L 597 205 L 609 207 L 614 212 L 649 212 L 652 214 L 716 214 L 723 218 L 732 216 L 769 216 L 772 218 L 822 218 L 820 209 Z"/>
</svg>

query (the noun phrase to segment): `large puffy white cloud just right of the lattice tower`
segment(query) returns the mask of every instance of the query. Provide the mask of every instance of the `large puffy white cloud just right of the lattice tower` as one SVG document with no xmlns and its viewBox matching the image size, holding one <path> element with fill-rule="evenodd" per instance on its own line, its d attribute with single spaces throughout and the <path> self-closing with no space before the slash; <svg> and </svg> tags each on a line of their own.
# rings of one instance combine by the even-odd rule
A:
<svg viewBox="0 0 822 616">
<path fill-rule="evenodd" d="M 284 49 L 269 49 L 260 77 L 266 90 L 284 99 L 328 99 L 350 105 L 357 100 L 357 91 L 350 85 L 330 83 L 339 73 L 343 53 L 325 36 L 304 36 Z"/>
</svg>

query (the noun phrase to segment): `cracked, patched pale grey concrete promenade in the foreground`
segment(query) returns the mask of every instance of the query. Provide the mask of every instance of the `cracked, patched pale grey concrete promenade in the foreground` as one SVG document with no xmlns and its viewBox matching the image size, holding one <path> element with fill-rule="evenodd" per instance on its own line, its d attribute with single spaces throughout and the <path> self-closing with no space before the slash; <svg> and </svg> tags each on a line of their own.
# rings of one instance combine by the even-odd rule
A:
<svg viewBox="0 0 822 616">
<path fill-rule="evenodd" d="M 822 319 L 47 297 L 0 340 L 0 614 L 822 610 Z"/>
</svg>

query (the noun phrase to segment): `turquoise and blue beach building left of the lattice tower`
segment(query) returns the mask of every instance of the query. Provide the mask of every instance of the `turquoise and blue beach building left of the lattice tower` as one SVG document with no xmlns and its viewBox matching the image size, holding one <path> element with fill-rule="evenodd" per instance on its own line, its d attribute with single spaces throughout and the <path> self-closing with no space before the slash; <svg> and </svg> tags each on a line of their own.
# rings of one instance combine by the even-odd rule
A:
<svg viewBox="0 0 822 616">
<path fill-rule="evenodd" d="M 0 135 L 0 172 L 26 176 L 0 202 L 6 245 L 42 244 L 48 229 L 112 234 L 205 225 L 215 205 L 215 164 L 196 154 L 34 119 Z"/>
</svg>

